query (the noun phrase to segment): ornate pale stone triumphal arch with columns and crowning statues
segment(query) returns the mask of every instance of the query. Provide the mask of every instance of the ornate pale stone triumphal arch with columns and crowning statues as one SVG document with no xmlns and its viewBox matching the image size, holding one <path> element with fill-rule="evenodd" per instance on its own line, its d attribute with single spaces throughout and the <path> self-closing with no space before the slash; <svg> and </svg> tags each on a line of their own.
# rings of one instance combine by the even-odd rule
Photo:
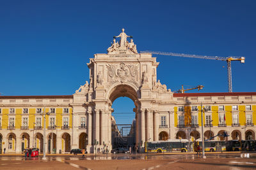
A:
<svg viewBox="0 0 256 170">
<path fill-rule="evenodd" d="M 111 105 L 118 97 L 134 101 L 136 145 L 157 141 L 158 112 L 173 110 L 168 107 L 173 93 L 157 81 L 159 62 L 150 53 L 138 53 L 132 36 L 124 29 L 114 36 L 107 51 L 90 59 L 90 83 L 86 81 L 74 94 L 74 114 L 88 114 L 87 149 L 92 150 L 97 141 L 100 146 L 111 147 Z"/>
</svg>

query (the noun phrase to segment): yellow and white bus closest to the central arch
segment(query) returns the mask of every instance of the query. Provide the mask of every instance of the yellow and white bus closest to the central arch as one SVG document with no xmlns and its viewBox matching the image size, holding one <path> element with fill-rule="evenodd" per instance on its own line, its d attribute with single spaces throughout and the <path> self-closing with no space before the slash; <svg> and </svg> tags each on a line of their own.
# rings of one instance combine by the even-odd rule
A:
<svg viewBox="0 0 256 170">
<path fill-rule="evenodd" d="M 188 145 L 188 139 L 168 139 L 167 141 L 145 142 L 145 152 L 188 152 Z"/>
</svg>

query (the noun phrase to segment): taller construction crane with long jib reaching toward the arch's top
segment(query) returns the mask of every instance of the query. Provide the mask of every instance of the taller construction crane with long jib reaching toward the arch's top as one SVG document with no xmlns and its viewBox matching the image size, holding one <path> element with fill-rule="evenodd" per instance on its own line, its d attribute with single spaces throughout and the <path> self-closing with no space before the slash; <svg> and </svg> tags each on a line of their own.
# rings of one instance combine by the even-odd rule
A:
<svg viewBox="0 0 256 170">
<path fill-rule="evenodd" d="M 232 72 L 231 72 L 231 61 L 239 60 L 241 63 L 244 63 L 244 57 L 218 57 L 218 56 L 206 56 L 206 55 L 193 55 L 186 53 L 170 53 L 170 52 L 152 52 L 152 51 L 142 51 L 141 53 L 152 53 L 157 55 L 171 55 L 177 57 L 189 57 L 196 59 L 208 59 L 208 60 L 225 60 L 227 61 L 227 69 L 228 69 L 228 92 L 232 92 Z"/>
</svg>

